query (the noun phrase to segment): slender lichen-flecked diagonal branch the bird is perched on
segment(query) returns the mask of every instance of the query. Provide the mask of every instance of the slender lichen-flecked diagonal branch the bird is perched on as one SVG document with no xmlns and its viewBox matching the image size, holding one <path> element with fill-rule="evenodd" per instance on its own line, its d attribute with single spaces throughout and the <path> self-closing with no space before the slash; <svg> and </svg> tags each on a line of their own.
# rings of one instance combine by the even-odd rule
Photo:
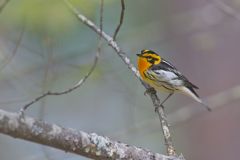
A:
<svg viewBox="0 0 240 160">
<path fill-rule="evenodd" d="M 118 44 L 113 40 L 113 38 L 111 36 L 109 36 L 108 34 L 106 34 L 105 32 L 101 32 L 100 29 L 92 22 L 90 21 L 87 17 L 85 17 L 84 15 L 82 15 L 80 12 L 78 12 L 78 10 L 68 1 L 68 0 L 64 0 L 64 2 L 66 3 L 66 5 L 68 6 L 68 8 L 71 10 L 71 12 L 74 13 L 74 15 L 85 25 L 87 25 L 89 28 L 91 28 L 93 31 L 95 31 L 97 34 L 102 34 L 102 37 L 108 42 L 108 45 L 111 46 L 116 53 L 118 54 L 118 56 L 123 60 L 123 62 L 128 66 L 128 68 L 134 73 L 134 75 L 142 82 L 143 86 L 148 89 L 149 86 L 146 85 L 140 78 L 139 76 L 139 72 L 137 71 L 137 69 L 134 67 L 134 65 L 131 63 L 130 59 L 126 56 L 126 53 L 123 52 Z M 149 96 L 152 99 L 153 105 L 154 107 L 157 107 L 158 110 L 158 115 L 159 115 L 159 119 L 161 122 L 161 127 L 163 129 L 163 135 L 164 135 L 164 139 L 166 142 L 166 147 L 167 147 L 167 154 L 168 155 L 173 155 L 175 156 L 175 149 L 173 147 L 173 142 L 172 142 L 172 138 L 171 138 L 171 134 L 169 131 L 169 125 L 165 119 L 165 114 L 163 109 L 160 106 L 160 100 L 158 99 L 156 93 L 149 93 Z"/>
</svg>

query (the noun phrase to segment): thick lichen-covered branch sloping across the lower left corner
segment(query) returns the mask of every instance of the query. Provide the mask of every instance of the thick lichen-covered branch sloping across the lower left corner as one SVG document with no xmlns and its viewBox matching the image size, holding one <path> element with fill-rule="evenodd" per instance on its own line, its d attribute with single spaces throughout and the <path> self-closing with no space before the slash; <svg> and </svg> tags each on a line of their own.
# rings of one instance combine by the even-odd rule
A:
<svg viewBox="0 0 240 160">
<path fill-rule="evenodd" d="M 115 142 L 96 133 L 86 133 L 56 124 L 19 118 L 16 113 L 0 110 L 0 133 L 14 138 L 51 146 L 66 152 L 94 159 L 180 160 L 151 151 Z"/>
</svg>

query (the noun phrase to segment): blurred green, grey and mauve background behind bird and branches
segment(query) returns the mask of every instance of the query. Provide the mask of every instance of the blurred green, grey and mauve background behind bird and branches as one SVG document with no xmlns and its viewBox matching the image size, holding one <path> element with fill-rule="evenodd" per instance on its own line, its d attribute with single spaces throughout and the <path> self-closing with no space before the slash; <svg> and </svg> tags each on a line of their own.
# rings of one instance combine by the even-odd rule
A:
<svg viewBox="0 0 240 160">
<path fill-rule="evenodd" d="M 99 0 L 70 2 L 99 25 Z M 177 152 L 188 160 L 239 159 L 240 1 L 125 3 L 117 42 L 132 62 L 142 49 L 159 52 L 213 107 L 209 113 L 182 95 L 165 104 Z M 110 35 L 120 9 L 120 1 L 105 0 L 103 28 Z M 45 91 L 72 87 L 90 69 L 97 45 L 98 36 L 62 1 L 10 0 L 0 13 L 0 108 L 17 112 Z M 103 42 L 97 68 L 83 86 L 41 100 L 27 115 L 165 153 L 158 116 L 143 93 L 139 80 Z M 86 158 L 0 135 L 0 159 Z"/>
</svg>

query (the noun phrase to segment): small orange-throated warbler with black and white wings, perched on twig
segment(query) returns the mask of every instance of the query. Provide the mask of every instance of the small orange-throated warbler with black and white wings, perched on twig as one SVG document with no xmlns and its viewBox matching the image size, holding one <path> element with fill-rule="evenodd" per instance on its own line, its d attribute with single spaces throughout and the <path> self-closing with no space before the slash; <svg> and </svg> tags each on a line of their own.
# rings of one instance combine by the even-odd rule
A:
<svg viewBox="0 0 240 160">
<path fill-rule="evenodd" d="M 169 93 L 166 99 L 162 101 L 161 106 L 175 92 L 179 92 L 192 97 L 197 102 L 203 104 L 208 111 L 211 111 L 211 108 L 203 103 L 194 90 L 198 89 L 198 87 L 192 84 L 171 63 L 151 50 L 142 50 L 141 54 L 137 54 L 137 56 L 138 70 L 142 80 L 157 91 Z"/>
</svg>

